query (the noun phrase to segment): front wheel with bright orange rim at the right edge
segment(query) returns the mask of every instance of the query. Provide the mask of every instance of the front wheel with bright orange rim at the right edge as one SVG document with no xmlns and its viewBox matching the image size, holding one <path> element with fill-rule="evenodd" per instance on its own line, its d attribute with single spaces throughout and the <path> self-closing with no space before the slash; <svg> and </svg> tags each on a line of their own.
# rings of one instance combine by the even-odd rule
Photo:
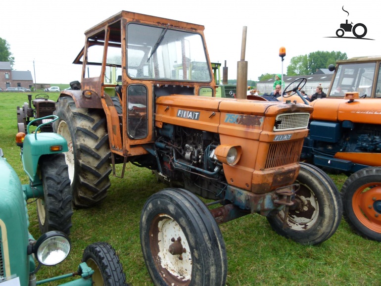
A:
<svg viewBox="0 0 381 286">
<path fill-rule="evenodd" d="M 344 219 L 353 231 L 381 241 L 381 167 L 352 174 L 341 189 Z"/>
</svg>

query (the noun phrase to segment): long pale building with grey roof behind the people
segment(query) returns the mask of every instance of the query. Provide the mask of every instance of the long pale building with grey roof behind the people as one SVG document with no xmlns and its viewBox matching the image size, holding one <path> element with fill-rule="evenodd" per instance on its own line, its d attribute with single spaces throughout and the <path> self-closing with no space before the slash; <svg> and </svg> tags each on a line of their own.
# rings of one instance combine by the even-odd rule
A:
<svg viewBox="0 0 381 286">
<path fill-rule="evenodd" d="M 319 85 L 322 86 L 323 92 L 327 94 L 331 85 L 333 73 L 325 74 L 323 70 L 326 70 L 326 69 L 320 69 L 320 70 L 321 70 L 320 74 L 316 73 L 316 74 L 307 75 L 307 76 L 283 76 L 283 81 L 285 82 L 285 88 L 298 78 L 306 78 L 307 83 L 302 88 L 302 90 L 304 90 L 304 92 L 307 95 L 313 95 L 314 93 L 316 93 L 316 87 Z M 270 94 L 273 91 L 273 84 L 274 84 L 274 79 L 258 82 L 257 83 L 258 93 L 261 95 L 265 93 Z M 293 86 L 296 86 L 296 84 L 294 84 Z M 292 87 L 288 89 L 291 89 L 291 88 Z"/>
</svg>

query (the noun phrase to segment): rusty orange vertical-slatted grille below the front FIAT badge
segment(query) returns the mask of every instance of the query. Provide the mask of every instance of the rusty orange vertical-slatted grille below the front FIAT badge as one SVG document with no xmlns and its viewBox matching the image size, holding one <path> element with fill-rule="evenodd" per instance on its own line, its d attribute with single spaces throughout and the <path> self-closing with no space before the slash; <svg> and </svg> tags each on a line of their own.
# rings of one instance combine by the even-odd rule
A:
<svg viewBox="0 0 381 286">
<path fill-rule="evenodd" d="M 265 169 L 277 168 L 299 162 L 304 139 L 270 143 Z"/>
</svg>

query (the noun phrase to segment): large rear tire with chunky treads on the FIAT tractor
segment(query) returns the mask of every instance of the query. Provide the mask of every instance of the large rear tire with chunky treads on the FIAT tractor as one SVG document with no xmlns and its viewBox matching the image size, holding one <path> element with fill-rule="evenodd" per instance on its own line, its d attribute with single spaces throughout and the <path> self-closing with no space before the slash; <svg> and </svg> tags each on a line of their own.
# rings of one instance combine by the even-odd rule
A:
<svg viewBox="0 0 381 286">
<path fill-rule="evenodd" d="M 99 110 L 77 108 L 71 97 L 59 98 L 54 114 L 59 120 L 53 123 L 53 130 L 68 142 L 65 158 L 73 203 L 76 207 L 98 204 L 111 185 L 106 119 Z"/>
</svg>

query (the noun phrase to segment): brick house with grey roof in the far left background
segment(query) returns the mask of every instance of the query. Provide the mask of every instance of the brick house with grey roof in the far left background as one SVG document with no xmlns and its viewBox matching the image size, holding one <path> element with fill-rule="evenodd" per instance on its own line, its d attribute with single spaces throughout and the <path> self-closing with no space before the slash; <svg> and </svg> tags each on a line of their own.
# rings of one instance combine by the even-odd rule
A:
<svg viewBox="0 0 381 286">
<path fill-rule="evenodd" d="M 0 88 L 33 87 L 33 78 L 30 71 L 12 70 L 10 62 L 0 61 Z"/>
</svg>

